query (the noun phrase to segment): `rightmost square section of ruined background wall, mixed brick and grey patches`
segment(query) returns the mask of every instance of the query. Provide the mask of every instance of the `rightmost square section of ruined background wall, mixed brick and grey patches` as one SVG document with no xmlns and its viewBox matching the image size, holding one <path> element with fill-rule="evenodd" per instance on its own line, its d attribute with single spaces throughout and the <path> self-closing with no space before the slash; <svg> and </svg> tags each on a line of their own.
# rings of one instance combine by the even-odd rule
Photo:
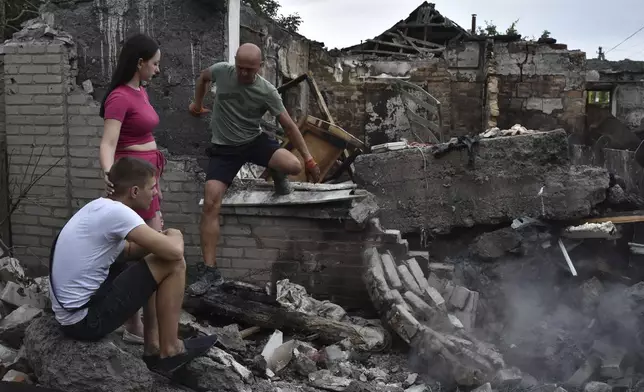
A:
<svg viewBox="0 0 644 392">
<path fill-rule="evenodd" d="M 586 110 L 586 55 L 563 46 L 495 43 L 499 126 L 582 131 Z"/>
</svg>

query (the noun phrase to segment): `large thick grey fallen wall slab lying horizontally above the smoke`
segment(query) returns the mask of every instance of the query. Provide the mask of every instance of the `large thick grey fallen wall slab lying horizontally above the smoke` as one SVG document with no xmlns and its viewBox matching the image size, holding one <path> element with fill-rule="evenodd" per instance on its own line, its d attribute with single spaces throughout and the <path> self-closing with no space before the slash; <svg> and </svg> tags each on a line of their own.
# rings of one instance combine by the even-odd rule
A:
<svg viewBox="0 0 644 392">
<path fill-rule="evenodd" d="M 362 154 L 355 181 L 378 199 L 382 225 L 402 232 L 510 223 L 543 210 L 548 219 L 576 219 L 606 199 L 608 171 L 572 166 L 564 130 L 481 140 L 472 158 L 475 169 L 468 154 L 435 158 L 429 147 Z"/>
</svg>

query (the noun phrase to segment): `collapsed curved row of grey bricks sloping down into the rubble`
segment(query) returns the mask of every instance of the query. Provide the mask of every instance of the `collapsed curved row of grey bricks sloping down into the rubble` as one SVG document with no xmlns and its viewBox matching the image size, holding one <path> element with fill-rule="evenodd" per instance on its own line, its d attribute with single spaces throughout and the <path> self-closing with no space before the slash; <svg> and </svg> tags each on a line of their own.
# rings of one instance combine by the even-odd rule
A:
<svg viewBox="0 0 644 392">
<path fill-rule="evenodd" d="M 471 387 L 493 380 L 504 368 L 494 347 L 471 335 L 479 294 L 451 282 L 453 266 L 429 264 L 426 276 L 416 257 L 396 262 L 376 248 L 364 257 L 376 309 L 428 366 L 428 374 L 446 385 Z"/>
</svg>

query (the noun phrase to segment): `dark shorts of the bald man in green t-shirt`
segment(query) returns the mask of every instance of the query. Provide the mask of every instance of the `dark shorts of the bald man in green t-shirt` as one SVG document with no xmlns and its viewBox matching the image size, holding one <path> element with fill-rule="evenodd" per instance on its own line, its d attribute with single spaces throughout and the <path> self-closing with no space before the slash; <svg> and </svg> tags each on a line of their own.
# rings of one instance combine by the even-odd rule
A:
<svg viewBox="0 0 644 392">
<path fill-rule="evenodd" d="M 268 161 L 279 148 L 278 141 L 263 132 L 252 142 L 239 146 L 213 144 L 207 152 L 210 162 L 206 181 L 217 180 L 230 185 L 245 163 L 268 167 Z"/>
</svg>

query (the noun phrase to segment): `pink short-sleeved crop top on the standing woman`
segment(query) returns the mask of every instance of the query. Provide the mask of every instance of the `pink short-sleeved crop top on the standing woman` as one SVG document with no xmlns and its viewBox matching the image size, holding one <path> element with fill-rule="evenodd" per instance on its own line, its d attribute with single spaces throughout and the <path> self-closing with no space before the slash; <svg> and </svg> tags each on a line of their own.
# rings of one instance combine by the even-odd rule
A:
<svg viewBox="0 0 644 392">
<path fill-rule="evenodd" d="M 130 86 L 115 88 L 105 101 L 104 118 L 121 122 L 117 151 L 127 146 L 153 142 L 152 132 L 159 125 L 159 115 L 150 105 L 148 93 L 143 87 L 140 90 Z"/>
</svg>

